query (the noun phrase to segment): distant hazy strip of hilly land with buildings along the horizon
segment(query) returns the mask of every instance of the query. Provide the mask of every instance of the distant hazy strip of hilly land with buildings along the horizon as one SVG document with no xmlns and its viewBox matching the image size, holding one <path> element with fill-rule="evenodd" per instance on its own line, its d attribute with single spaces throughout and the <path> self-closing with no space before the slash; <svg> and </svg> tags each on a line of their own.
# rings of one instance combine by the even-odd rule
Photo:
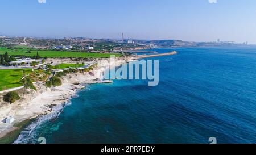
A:
<svg viewBox="0 0 256 155">
<path fill-rule="evenodd" d="M 127 43 L 128 40 L 125 40 Z M 122 50 L 152 47 L 218 47 L 218 46 L 247 46 L 247 43 L 237 44 L 229 41 L 212 41 L 212 42 L 194 42 L 183 40 L 134 40 L 136 44 L 121 44 L 118 39 L 91 39 L 86 37 L 66 37 L 64 39 L 39 39 L 35 37 L 27 37 L 26 44 L 31 47 L 52 48 L 58 45 L 73 45 L 76 48 L 82 48 L 87 45 L 93 45 L 94 48 Z M 6 37 L 0 35 L 0 45 L 13 46 L 23 45 L 24 37 Z M 155 46 L 157 45 L 157 46 Z M 252 45 L 250 45 L 252 46 Z M 98 47 L 98 48 L 97 48 Z"/>
</svg>

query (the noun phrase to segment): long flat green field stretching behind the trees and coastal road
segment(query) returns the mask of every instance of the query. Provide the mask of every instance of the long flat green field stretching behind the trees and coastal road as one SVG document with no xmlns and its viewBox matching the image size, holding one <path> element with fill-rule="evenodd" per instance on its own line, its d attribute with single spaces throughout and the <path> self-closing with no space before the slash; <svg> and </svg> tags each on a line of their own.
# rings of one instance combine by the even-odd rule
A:
<svg viewBox="0 0 256 155">
<path fill-rule="evenodd" d="M 17 49 L 7 49 L 7 48 L 0 48 L 0 54 L 4 54 L 8 52 L 10 56 L 36 56 L 36 50 L 32 49 L 31 53 L 27 53 L 27 48 L 17 48 Z M 66 52 L 66 51 L 51 51 L 51 50 L 44 50 L 38 51 L 41 57 L 83 57 L 83 58 L 107 58 L 111 55 L 115 55 L 115 57 L 120 57 L 121 54 L 114 54 L 114 53 L 89 53 L 89 52 Z"/>
</svg>

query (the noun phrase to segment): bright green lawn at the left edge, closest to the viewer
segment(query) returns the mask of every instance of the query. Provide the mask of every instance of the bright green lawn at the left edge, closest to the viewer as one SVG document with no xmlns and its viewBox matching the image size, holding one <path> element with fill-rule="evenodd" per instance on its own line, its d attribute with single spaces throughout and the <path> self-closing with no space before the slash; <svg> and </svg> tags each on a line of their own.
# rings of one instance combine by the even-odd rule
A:
<svg viewBox="0 0 256 155">
<path fill-rule="evenodd" d="M 3 69 L 0 70 L 0 91 L 22 86 L 20 78 L 22 71 L 32 72 L 31 69 Z"/>
</svg>

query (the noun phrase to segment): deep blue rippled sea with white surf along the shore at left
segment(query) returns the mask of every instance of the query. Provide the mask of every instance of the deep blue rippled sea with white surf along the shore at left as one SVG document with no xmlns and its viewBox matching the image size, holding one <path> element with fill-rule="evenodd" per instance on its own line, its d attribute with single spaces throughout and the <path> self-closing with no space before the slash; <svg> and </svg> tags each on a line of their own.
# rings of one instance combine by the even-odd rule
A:
<svg viewBox="0 0 256 155">
<path fill-rule="evenodd" d="M 159 48 L 159 85 L 88 85 L 16 143 L 256 143 L 256 48 Z"/>
</svg>

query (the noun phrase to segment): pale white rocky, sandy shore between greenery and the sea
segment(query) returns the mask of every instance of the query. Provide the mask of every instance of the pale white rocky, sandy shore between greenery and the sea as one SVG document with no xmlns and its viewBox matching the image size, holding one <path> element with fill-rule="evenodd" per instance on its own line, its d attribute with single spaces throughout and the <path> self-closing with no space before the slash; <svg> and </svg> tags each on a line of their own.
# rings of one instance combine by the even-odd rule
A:
<svg viewBox="0 0 256 155">
<path fill-rule="evenodd" d="M 129 58 L 116 58 L 115 66 L 126 63 Z M 63 85 L 48 88 L 44 83 L 38 82 L 34 85 L 37 91 L 20 89 L 18 93 L 20 100 L 13 104 L 0 101 L 0 138 L 7 133 L 14 131 L 14 124 L 24 120 L 36 118 L 39 115 L 48 114 L 52 108 L 58 104 L 68 102 L 77 90 L 84 89 L 84 83 L 93 83 L 96 79 L 102 79 L 102 73 L 110 66 L 110 61 L 97 60 L 98 67 L 93 70 L 93 76 L 89 73 L 72 73 L 63 77 Z M 80 84 L 79 84 L 80 83 Z M 79 85 L 78 85 L 79 84 Z M 1 96 L 2 94 L 0 94 Z M 14 117 L 11 124 L 4 123 L 3 120 L 9 116 Z"/>
</svg>

